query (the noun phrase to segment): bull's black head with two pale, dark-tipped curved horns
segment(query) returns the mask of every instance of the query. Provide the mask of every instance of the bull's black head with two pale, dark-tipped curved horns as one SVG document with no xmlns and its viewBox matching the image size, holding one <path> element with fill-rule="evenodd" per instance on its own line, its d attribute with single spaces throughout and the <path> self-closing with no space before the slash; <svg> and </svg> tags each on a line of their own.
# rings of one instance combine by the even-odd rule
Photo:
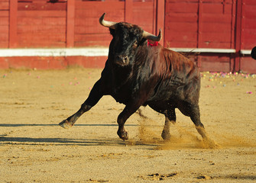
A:
<svg viewBox="0 0 256 183">
<path fill-rule="evenodd" d="M 99 18 L 99 23 L 109 27 L 113 36 L 109 46 L 109 59 L 118 66 L 128 66 L 129 63 L 133 63 L 134 56 L 145 40 L 159 41 L 162 38 L 161 30 L 158 36 L 154 36 L 137 25 L 105 21 L 104 17 L 105 13 Z"/>
</svg>

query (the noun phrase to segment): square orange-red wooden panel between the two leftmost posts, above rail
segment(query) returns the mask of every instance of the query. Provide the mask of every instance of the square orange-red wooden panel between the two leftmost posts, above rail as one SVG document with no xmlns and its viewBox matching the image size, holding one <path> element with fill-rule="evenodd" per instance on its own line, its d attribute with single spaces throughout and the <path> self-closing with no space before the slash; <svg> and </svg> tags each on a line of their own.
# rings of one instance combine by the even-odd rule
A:
<svg viewBox="0 0 256 183">
<path fill-rule="evenodd" d="M 18 47 L 66 47 L 66 2 L 18 2 Z"/>
</svg>

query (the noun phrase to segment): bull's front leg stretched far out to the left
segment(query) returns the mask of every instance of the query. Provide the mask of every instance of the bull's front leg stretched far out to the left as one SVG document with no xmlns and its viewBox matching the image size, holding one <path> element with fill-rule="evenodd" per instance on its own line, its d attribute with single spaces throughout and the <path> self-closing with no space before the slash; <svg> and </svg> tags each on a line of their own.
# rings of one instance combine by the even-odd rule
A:
<svg viewBox="0 0 256 183">
<path fill-rule="evenodd" d="M 76 123 L 76 120 L 80 116 L 82 116 L 86 111 L 89 111 L 94 105 L 96 105 L 100 98 L 102 98 L 103 92 L 101 87 L 101 81 L 99 80 L 96 82 L 96 84 L 93 86 L 91 92 L 89 93 L 89 97 L 86 99 L 86 101 L 82 104 L 79 111 L 77 111 L 72 116 L 66 118 L 66 120 L 63 120 L 60 122 L 60 127 L 69 129 L 70 127 L 73 127 L 73 125 Z"/>
</svg>

